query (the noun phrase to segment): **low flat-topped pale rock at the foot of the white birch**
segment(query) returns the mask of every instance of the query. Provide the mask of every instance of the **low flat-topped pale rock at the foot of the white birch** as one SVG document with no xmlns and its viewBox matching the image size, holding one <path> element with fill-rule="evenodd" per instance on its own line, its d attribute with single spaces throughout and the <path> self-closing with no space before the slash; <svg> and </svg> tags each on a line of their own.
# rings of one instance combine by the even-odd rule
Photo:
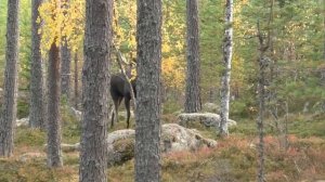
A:
<svg viewBox="0 0 325 182">
<path fill-rule="evenodd" d="M 183 113 L 178 116 L 178 123 L 183 127 L 193 127 L 200 123 L 205 127 L 219 127 L 221 117 L 213 113 Z M 229 127 L 236 126 L 236 121 L 229 119 Z"/>
</svg>

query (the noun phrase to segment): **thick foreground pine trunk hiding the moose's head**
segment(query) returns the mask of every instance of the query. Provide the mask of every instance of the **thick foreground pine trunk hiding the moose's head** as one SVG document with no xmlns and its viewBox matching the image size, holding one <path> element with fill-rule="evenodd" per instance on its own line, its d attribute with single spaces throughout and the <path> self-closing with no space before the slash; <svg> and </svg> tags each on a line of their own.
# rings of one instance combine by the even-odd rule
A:
<svg viewBox="0 0 325 182">
<path fill-rule="evenodd" d="M 135 181 L 160 181 L 161 0 L 138 0 Z"/>
</svg>

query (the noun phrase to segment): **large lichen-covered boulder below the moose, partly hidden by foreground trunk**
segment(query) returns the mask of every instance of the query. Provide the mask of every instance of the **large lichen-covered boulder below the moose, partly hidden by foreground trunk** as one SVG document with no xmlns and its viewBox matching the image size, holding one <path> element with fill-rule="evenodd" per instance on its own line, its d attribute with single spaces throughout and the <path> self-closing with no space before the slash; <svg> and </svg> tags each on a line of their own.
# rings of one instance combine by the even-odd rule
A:
<svg viewBox="0 0 325 182">
<path fill-rule="evenodd" d="M 122 164 L 134 157 L 134 130 L 118 130 L 108 134 L 108 165 Z M 200 147 L 214 147 L 217 141 L 205 139 L 197 130 L 177 123 L 162 125 L 160 148 L 162 153 L 196 151 Z"/>
</svg>

